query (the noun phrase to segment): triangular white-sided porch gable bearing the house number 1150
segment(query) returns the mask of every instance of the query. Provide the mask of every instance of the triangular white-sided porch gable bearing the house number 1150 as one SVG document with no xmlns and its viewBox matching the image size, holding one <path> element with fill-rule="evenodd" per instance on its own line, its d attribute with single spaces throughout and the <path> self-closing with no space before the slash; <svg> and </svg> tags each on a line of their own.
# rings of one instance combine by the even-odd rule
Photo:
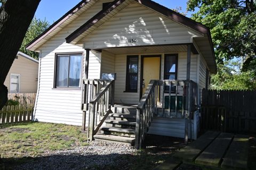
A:
<svg viewBox="0 0 256 170">
<path fill-rule="evenodd" d="M 198 33 L 147 7 L 132 3 L 80 42 L 85 48 L 192 43 Z M 129 39 L 137 39 L 129 43 Z"/>
</svg>

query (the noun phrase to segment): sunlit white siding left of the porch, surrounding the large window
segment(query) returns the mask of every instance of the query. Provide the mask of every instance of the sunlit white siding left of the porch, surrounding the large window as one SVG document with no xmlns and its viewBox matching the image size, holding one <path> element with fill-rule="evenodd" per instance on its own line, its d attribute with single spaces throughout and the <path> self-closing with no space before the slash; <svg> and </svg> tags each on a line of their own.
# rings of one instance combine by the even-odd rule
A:
<svg viewBox="0 0 256 170">
<path fill-rule="evenodd" d="M 65 38 L 75 31 L 87 20 L 92 18 L 102 9 L 102 3 L 109 1 L 99 1 L 91 8 L 81 14 L 76 20 L 63 28 L 57 35 L 52 37 L 38 50 L 41 50 L 41 67 L 39 73 L 39 89 L 37 103 L 35 105 L 35 121 L 64 123 L 71 125 L 82 125 L 81 111 L 81 89 L 61 90 L 54 89 L 54 66 L 56 53 L 84 53 L 86 51 L 82 45 L 67 44 Z M 85 57 L 84 57 L 85 60 Z M 100 78 L 101 53 L 90 52 L 89 58 L 89 78 Z M 83 62 L 83 76 L 85 77 L 85 62 Z"/>
</svg>

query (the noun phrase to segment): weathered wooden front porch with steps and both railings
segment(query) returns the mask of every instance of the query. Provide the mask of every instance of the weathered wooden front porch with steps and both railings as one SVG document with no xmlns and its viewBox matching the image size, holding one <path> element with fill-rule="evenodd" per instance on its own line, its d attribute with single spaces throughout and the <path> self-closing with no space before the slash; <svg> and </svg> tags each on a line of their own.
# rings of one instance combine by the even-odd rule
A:
<svg viewBox="0 0 256 170">
<path fill-rule="evenodd" d="M 197 138 L 197 84 L 191 80 L 151 80 L 137 106 L 114 104 L 115 80 L 83 82 L 83 129 L 88 126 L 90 141 L 115 141 L 141 148 L 147 133 L 184 137 L 186 142 Z M 166 87 L 176 89 L 174 96 L 171 90 L 165 93 Z M 173 101 L 168 100 L 171 97 Z"/>
</svg>

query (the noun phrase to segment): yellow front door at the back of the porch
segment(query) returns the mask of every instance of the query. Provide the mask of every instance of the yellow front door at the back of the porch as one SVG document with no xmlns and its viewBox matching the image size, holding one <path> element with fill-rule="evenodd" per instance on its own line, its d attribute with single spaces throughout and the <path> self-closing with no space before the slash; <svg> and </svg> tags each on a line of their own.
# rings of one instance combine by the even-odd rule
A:
<svg viewBox="0 0 256 170">
<path fill-rule="evenodd" d="M 142 95 L 145 93 L 150 80 L 160 79 L 160 62 L 161 57 L 143 57 L 143 77 L 142 80 L 145 86 L 142 87 Z"/>
</svg>

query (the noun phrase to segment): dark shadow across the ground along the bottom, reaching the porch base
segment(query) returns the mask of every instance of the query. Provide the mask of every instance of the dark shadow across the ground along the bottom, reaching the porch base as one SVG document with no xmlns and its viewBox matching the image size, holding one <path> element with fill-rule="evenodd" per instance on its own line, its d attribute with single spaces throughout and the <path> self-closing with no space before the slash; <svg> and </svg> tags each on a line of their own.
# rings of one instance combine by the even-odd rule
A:
<svg viewBox="0 0 256 170">
<path fill-rule="evenodd" d="M 4 158 L 0 169 L 153 169 L 183 147 L 179 138 L 148 135 L 146 148 L 135 154 L 69 154 L 37 158 Z M 102 150 L 103 152 L 104 150 Z M 100 154 L 100 155 L 97 155 Z"/>
</svg>

